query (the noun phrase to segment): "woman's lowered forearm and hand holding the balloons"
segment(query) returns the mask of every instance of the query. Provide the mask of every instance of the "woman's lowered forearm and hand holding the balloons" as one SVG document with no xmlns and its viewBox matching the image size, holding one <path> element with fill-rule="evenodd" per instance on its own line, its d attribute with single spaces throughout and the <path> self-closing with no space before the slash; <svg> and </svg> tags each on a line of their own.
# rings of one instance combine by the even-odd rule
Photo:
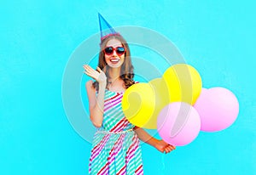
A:
<svg viewBox="0 0 256 175">
<path fill-rule="evenodd" d="M 156 148 L 157 150 L 159 150 L 162 153 L 163 152 L 169 153 L 172 150 L 176 149 L 175 146 L 173 146 L 171 144 L 167 144 L 163 140 L 153 138 L 143 128 L 134 127 L 134 131 L 135 131 L 135 133 L 137 133 L 137 137 L 140 138 L 143 142 L 150 144 L 151 146 L 154 146 L 154 148 Z"/>
</svg>

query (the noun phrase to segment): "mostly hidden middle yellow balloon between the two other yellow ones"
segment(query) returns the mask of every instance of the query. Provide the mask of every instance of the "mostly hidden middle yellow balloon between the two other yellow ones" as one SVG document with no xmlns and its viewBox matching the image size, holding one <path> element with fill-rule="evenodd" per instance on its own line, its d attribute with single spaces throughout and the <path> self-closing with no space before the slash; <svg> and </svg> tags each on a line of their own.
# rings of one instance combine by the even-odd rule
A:
<svg viewBox="0 0 256 175">
<path fill-rule="evenodd" d="M 148 129 L 156 129 L 157 128 L 157 116 L 167 104 L 169 104 L 169 96 L 168 96 L 168 88 L 166 86 L 166 82 L 163 78 L 155 78 L 148 82 L 148 84 L 154 90 L 154 112 L 152 116 L 149 118 L 148 122 L 145 124 L 145 127 Z"/>
</svg>

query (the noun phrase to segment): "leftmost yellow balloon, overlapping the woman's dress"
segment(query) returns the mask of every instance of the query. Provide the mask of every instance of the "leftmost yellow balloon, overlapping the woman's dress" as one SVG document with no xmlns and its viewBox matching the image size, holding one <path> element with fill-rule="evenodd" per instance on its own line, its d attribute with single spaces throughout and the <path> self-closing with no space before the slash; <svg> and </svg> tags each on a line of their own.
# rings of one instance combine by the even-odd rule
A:
<svg viewBox="0 0 256 175">
<path fill-rule="evenodd" d="M 122 99 L 125 117 L 137 127 L 145 127 L 154 113 L 154 90 L 145 82 L 137 83 L 128 88 Z"/>
</svg>

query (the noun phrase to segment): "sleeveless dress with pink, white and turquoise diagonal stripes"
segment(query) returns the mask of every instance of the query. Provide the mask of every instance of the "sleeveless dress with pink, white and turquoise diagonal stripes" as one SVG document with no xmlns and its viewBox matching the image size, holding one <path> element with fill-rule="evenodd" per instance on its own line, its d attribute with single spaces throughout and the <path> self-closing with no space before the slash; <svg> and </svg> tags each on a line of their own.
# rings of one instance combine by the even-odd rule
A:
<svg viewBox="0 0 256 175">
<path fill-rule="evenodd" d="M 106 89 L 102 127 L 93 138 L 89 174 L 143 174 L 139 139 L 124 116 L 122 98 L 123 93 Z"/>
</svg>

